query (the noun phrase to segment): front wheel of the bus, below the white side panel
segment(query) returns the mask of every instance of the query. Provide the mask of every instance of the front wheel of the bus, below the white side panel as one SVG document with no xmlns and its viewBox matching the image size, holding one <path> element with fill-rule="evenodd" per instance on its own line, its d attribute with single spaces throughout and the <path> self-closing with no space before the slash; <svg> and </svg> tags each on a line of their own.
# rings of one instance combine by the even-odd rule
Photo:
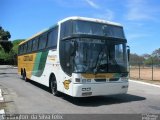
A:
<svg viewBox="0 0 160 120">
<path fill-rule="evenodd" d="M 54 79 L 54 77 L 51 77 L 50 90 L 51 90 L 51 93 L 54 96 L 58 96 L 59 95 L 59 92 L 57 90 L 57 81 Z"/>
</svg>

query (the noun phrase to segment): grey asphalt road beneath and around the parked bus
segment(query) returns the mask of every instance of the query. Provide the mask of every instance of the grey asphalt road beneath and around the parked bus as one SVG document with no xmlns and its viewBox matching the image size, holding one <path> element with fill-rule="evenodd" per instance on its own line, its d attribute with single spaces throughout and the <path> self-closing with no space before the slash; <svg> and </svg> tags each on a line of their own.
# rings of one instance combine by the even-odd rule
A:
<svg viewBox="0 0 160 120">
<path fill-rule="evenodd" d="M 13 67 L 0 67 L 0 88 L 5 98 L 6 113 L 60 114 L 142 114 L 160 113 L 160 88 L 129 83 L 125 95 L 74 99 L 55 97 L 34 82 L 25 82 Z"/>
</svg>

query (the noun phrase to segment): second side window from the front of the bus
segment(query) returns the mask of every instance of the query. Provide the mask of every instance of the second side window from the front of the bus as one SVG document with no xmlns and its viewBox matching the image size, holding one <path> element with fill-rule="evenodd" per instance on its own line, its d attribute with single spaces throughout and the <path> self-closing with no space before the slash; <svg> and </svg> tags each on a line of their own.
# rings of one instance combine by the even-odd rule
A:
<svg viewBox="0 0 160 120">
<path fill-rule="evenodd" d="M 38 49 L 44 49 L 46 47 L 46 43 L 47 43 L 47 34 L 42 34 L 39 38 L 39 47 Z"/>
</svg>

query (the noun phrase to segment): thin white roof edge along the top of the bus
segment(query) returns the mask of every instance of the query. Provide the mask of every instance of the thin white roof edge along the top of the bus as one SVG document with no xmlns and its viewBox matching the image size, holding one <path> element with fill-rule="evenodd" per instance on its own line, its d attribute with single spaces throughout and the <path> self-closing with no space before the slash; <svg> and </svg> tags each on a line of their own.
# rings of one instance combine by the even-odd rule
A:
<svg viewBox="0 0 160 120">
<path fill-rule="evenodd" d="M 109 25 L 115 25 L 115 26 L 120 26 L 122 27 L 122 25 L 120 23 L 116 23 L 116 22 L 111 22 L 111 21 L 106 21 L 106 20 L 102 20 L 102 19 L 96 19 L 96 18 L 87 18 L 87 17 L 79 17 L 79 16 L 73 16 L 73 17 L 67 17 L 61 21 L 58 22 L 58 24 L 61 24 L 67 20 L 84 20 L 84 21 L 90 21 L 90 22 L 98 22 L 98 23 L 104 23 L 104 24 L 109 24 Z M 55 26 L 55 25 L 54 25 Z M 48 31 L 49 29 L 53 28 L 54 26 L 52 27 L 49 27 L 48 29 L 44 29 L 38 33 L 36 33 L 35 35 L 33 35 L 32 37 L 26 39 L 25 41 L 22 41 L 19 45 L 31 40 L 32 38 L 35 38 L 37 37 L 38 35 Z"/>
</svg>

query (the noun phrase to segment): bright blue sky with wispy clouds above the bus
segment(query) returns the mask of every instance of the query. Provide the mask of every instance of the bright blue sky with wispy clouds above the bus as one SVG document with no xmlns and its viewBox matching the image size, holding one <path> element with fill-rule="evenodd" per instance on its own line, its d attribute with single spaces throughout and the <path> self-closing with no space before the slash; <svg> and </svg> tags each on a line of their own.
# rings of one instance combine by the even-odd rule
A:
<svg viewBox="0 0 160 120">
<path fill-rule="evenodd" d="M 122 24 L 131 53 L 160 48 L 159 0 L 0 0 L 0 26 L 10 40 L 29 38 L 70 16 Z"/>
</svg>

